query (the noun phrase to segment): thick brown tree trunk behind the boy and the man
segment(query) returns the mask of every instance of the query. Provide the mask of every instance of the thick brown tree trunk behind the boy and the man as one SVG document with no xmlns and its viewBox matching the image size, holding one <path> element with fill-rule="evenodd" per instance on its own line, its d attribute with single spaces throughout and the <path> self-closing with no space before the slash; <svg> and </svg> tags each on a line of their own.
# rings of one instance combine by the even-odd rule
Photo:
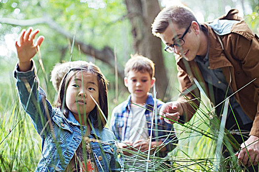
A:
<svg viewBox="0 0 259 172">
<path fill-rule="evenodd" d="M 158 0 L 125 0 L 132 25 L 135 53 L 155 63 L 157 98 L 163 99 L 168 80 L 162 56 L 161 40 L 151 33 L 151 24 L 160 11 Z"/>
</svg>

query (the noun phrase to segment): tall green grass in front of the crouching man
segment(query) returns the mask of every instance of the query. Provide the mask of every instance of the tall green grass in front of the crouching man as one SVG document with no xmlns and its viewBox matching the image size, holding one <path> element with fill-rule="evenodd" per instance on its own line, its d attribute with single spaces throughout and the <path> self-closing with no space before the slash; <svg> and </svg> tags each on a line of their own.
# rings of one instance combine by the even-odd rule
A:
<svg viewBox="0 0 259 172">
<path fill-rule="evenodd" d="M 188 123 L 174 124 L 175 132 L 178 138 L 176 148 L 169 152 L 164 158 L 150 155 L 147 161 L 147 152 L 142 153 L 138 150 L 126 150 L 133 154 L 129 158 L 129 162 L 142 162 L 143 166 L 134 167 L 125 165 L 125 169 L 133 169 L 133 171 L 143 172 L 243 172 L 237 165 L 237 158 L 234 152 L 229 157 L 216 156 L 216 147 L 219 142 L 219 130 L 221 120 L 214 115 L 210 102 L 206 96 L 201 98 L 201 106 L 196 114 Z M 228 131 L 224 130 L 222 144 L 227 145 L 231 150 L 228 140 L 233 137 Z M 229 136 L 229 137 L 228 137 Z M 173 141 L 172 141 L 173 142 Z M 237 142 L 233 142 L 234 146 L 239 147 Z M 164 146 L 162 144 L 161 146 Z M 130 147 L 130 146 L 129 146 Z M 132 147 L 133 148 L 133 147 Z M 157 148 L 156 150 L 159 150 Z M 142 156 L 143 159 L 136 157 Z M 146 165 L 149 164 L 148 170 Z"/>
</svg>

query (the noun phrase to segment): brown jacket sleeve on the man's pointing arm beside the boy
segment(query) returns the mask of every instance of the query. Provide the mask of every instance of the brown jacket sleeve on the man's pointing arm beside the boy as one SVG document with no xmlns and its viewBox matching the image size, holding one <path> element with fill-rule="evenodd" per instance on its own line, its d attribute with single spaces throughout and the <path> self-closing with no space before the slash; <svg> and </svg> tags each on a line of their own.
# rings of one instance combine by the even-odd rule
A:
<svg viewBox="0 0 259 172">
<path fill-rule="evenodd" d="M 177 101 L 181 103 L 184 110 L 184 115 L 180 116 L 180 123 L 189 121 L 195 114 L 200 104 L 199 99 L 197 99 L 200 97 L 200 91 L 194 84 L 192 84 L 193 77 L 191 75 L 191 68 L 189 63 L 184 60 L 185 59 L 182 58 L 179 62 L 177 62 L 177 77 L 180 84 L 180 94 Z M 180 67 L 179 64 L 182 67 Z M 189 71 L 189 75 L 187 74 L 187 71 Z"/>
</svg>

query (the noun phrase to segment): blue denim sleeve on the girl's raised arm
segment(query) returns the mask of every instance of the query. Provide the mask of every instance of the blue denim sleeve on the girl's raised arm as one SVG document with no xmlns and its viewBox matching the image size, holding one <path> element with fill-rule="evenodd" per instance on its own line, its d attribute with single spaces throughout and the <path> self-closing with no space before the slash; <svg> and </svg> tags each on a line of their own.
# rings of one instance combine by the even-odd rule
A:
<svg viewBox="0 0 259 172">
<path fill-rule="evenodd" d="M 51 119 L 52 107 L 46 99 L 46 94 L 38 86 L 36 67 L 32 61 L 32 69 L 20 72 L 18 64 L 14 69 L 18 95 L 24 111 L 31 117 L 32 123 L 40 136 L 45 136 L 48 129 L 48 119 Z M 48 116 L 48 117 L 47 117 Z"/>
</svg>

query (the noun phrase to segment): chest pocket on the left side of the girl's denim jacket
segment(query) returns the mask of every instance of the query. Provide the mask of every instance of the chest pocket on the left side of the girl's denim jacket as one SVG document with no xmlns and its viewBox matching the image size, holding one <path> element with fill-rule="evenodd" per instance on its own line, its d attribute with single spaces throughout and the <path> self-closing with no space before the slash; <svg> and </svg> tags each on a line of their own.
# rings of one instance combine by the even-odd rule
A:
<svg viewBox="0 0 259 172">
<path fill-rule="evenodd" d="M 50 143 L 64 143 L 68 136 L 73 132 L 70 126 L 60 120 L 60 117 L 53 117 L 52 129 L 48 132 L 47 139 Z"/>
</svg>

